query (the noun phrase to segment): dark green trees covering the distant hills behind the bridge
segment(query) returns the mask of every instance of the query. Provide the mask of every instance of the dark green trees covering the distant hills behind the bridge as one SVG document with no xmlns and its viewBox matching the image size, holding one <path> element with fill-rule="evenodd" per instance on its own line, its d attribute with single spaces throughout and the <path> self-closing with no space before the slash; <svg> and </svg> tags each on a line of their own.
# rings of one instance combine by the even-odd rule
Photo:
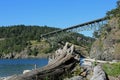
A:
<svg viewBox="0 0 120 80">
<path fill-rule="evenodd" d="M 31 40 L 36 40 L 39 42 L 41 34 L 45 34 L 54 30 L 59 30 L 59 28 L 25 25 L 1 26 L 0 54 L 13 52 L 19 53 L 31 45 Z M 57 40 L 57 38 L 55 38 L 55 40 Z M 90 46 L 92 45 L 94 39 L 91 37 L 86 37 L 79 33 L 70 33 L 70 35 L 63 37 L 62 40 L 57 40 L 57 42 L 59 41 L 71 42 L 80 46 L 89 46 L 90 49 Z M 54 40 L 49 43 L 54 43 L 55 46 L 51 47 L 49 50 L 47 50 L 47 52 L 54 51 L 59 47 Z M 37 49 L 35 49 L 35 51 L 37 51 Z"/>
</svg>

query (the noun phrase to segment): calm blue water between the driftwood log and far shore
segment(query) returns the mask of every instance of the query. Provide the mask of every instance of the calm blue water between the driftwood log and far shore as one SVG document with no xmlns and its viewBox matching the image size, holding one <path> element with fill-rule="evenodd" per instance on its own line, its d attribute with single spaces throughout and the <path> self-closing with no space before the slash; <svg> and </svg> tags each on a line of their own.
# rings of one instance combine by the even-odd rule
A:
<svg viewBox="0 0 120 80">
<path fill-rule="evenodd" d="M 22 74 L 23 70 L 34 69 L 48 64 L 48 59 L 0 59 L 0 77 Z"/>
</svg>

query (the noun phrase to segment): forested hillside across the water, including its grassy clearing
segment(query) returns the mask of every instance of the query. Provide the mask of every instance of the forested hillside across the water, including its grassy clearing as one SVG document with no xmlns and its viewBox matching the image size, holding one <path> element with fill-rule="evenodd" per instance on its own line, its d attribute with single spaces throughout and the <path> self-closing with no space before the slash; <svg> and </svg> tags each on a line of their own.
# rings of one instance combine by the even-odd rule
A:
<svg viewBox="0 0 120 80">
<path fill-rule="evenodd" d="M 54 41 L 40 40 L 41 34 L 54 30 L 58 30 L 58 28 L 25 25 L 1 26 L 0 56 L 5 57 L 8 54 L 8 56 L 12 57 L 16 54 L 37 56 L 38 54 L 55 51 L 59 47 L 57 43 L 54 44 L 56 46 L 51 47 L 50 43 L 54 43 Z M 80 45 L 89 51 L 94 39 L 81 34 L 71 33 L 70 36 L 64 37 L 62 41 Z"/>
</svg>

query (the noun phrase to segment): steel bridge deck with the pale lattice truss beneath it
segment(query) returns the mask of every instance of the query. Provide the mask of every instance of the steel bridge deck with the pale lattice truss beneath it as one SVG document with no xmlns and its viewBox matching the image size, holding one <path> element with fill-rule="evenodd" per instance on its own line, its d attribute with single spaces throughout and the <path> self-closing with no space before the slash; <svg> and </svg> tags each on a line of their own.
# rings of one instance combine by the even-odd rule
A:
<svg viewBox="0 0 120 80">
<path fill-rule="evenodd" d="M 75 26 L 71 26 L 65 29 L 60 29 L 46 34 L 42 34 L 40 37 L 49 39 L 50 41 L 54 39 L 56 39 L 56 41 L 60 41 L 63 37 L 68 36 L 72 33 L 97 30 L 100 27 L 103 27 L 107 23 L 107 21 L 108 21 L 108 17 L 104 17 L 93 21 L 85 22 L 82 24 L 78 24 Z"/>
</svg>

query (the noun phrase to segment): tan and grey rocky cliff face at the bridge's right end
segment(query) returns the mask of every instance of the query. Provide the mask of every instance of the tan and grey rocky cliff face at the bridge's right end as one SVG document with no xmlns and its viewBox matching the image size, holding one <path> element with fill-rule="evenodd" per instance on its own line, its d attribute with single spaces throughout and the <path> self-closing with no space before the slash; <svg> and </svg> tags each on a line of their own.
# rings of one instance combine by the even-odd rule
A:
<svg viewBox="0 0 120 80">
<path fill-rule="evenodd" d="M 119 19 L 112 18 L 105 25 L 100 37 L 92 45 L 90 57 L 101 60 L 120 59 Z"/>
</svg>

